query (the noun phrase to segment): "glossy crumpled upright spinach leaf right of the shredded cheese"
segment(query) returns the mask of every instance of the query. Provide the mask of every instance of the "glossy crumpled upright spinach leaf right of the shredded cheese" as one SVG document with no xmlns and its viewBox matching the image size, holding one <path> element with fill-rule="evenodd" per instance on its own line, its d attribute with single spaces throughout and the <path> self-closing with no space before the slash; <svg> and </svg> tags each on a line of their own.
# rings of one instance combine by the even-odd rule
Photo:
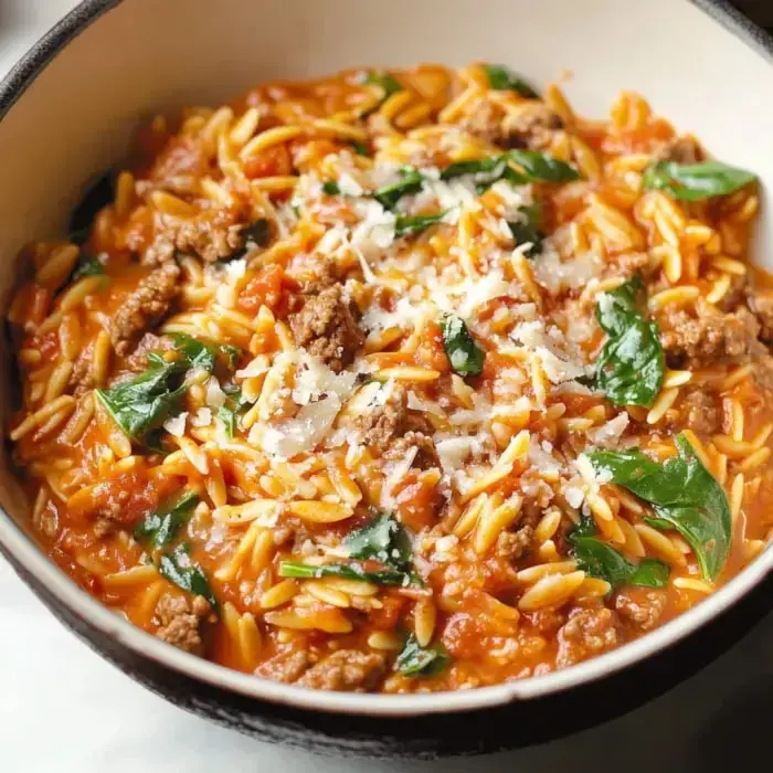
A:
<svg viewBox="0 0 773 773">
<path fill-rule="evenodd" d="M 596 361 L 596 386 L 615 405 L 652 406 L 663 386 L 665 359 L 655 322 L 644 316 L 640 276 L 604 293 L 596 319 L 608 336 Z"/>
</svg>

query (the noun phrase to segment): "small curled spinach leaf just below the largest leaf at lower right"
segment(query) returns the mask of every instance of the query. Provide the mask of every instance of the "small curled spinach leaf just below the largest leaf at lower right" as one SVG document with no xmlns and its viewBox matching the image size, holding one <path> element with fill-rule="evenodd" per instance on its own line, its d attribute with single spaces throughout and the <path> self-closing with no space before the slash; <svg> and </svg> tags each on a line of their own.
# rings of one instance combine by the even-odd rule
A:
<svg viewBox="0 0 773 773">
<path fill-rule="evenodd" d="M 670 573 L 668 564 L 656 559 L 642 559 L 638 564 L 627 561 L 611 544 L 595 536 L 592 518 L 584 518 L 568 534 L 578 566 L 594 578 L 606 580 L 613 589 L 618 585 L 665 587 Z"/>
</svg>

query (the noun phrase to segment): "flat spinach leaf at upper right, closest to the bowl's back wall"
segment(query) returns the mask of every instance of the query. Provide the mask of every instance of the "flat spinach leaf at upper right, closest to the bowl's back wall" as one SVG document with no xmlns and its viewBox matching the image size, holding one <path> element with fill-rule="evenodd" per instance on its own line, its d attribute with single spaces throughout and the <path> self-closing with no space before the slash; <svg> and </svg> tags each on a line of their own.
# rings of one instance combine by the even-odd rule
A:
<svg viewBox="0 0 773 773">
<path fill-rule="evenodd" d="M 756 174 L 728 167 L 720 161 L 659 161 L 645 170 L 642 184 L 645 188 L 666 191 L 674 199 L 681 201 L 701 201 L 733 193 L 752 180 L 756 180 Z"/>
</svg>

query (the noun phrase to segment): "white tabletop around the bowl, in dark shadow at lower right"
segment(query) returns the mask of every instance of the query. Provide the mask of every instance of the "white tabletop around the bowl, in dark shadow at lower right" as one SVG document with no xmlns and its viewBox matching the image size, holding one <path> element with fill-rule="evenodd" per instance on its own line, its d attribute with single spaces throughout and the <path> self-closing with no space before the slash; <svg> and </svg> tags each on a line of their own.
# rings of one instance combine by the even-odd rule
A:
<svg viewBox="0 0 773 773">
<path fill-rule="evenodd" d="M 0 73 L 74 4 L 0 0 Z M 562 741 L 437 763 L 319 758 L 214 727 L 146 691 L 64 631 L 0 559 L 2 773 L 707 773 L 770 760 L 771 717 L 773 616 L 667 696 Z"/>
</svg>

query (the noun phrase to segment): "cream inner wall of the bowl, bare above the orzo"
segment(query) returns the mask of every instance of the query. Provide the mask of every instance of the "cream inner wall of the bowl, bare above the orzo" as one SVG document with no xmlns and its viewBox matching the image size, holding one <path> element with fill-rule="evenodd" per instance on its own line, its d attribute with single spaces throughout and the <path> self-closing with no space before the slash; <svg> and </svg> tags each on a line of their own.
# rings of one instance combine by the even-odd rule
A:
<svg viewBox="0 0 773 773">
<path fill-rule="evenodd" d="M 502 62 L 539 85 L 565 78 L 570 102 L 586 116 L 605 116 L 623 88 L 640 92 L 680 130 L 693 131 L 712 155 L 754 170 L 763 187 L 773 184 L 773 103 L 760 98 L 773 91 L 770 61 L 687 0 L 220 0 L 216 6 L 209 0 L 87 0 L 82 9 L 96 17 L 108 6 L 115 7 L 55 55 L 0 123 L 4 305 L 17 276 L 18 250 L 32 239 L 64 233 L 84 186 L 121 158 L 138 117 L 183 105 L 216 105 L 264 80 L 364 64 Z M 17 95 L 6 94 L 10 96 Z M 763 208 L 755 257 L 771 269 L 772 227 Z M 0 380 L 3 427 L 10 392 L 9 379 Z M 7 459 L 0 469 L 0 504 L 24 521 L 29 506 Z M 9 533 L 0 513 L 0 541 L 10 540 Z M 770 555 L 762 561 L 770 563 Z M 682 626 L 682 633 L 695 627 L 700 615 L 732 601 L 763 571 L 758 568 L 754 578 L 731 584 L 702 605 L 706 610 L 687 615 L 687 624 L 673 625 Z M 59 574 L 49 576 L 63 582 Z M 680 635 L 675 631 L 658 632 L 650 637 L 654 644 L 645 639 L 625 656 L 613 653 L 606 661 L 612 666 L 572 669 L 575 676 L 557 677 L 551 689 L 599 676 L 615 663 L 621 667 Z M 129 636 L 123 628 L 120 635 Z M 160 643 L 146 649 L 172 658 Z M 192 668 L 192 658 L 173 657 Z M 213 679 L 222 670 L 211 664 L 197 668 Z M 232 686 L 245 690 L 240 679 L 233 675 Z M 277 689 L 266 688 L 286 699 L 287 688 Z M 530 689 L 519 686 L 496 695 L 528 697 Z M 361 698 L 367 697 L 352 697 L 351 706 Z M 448 701 L 438 701 L 437 709 Z"/>
</svg>

